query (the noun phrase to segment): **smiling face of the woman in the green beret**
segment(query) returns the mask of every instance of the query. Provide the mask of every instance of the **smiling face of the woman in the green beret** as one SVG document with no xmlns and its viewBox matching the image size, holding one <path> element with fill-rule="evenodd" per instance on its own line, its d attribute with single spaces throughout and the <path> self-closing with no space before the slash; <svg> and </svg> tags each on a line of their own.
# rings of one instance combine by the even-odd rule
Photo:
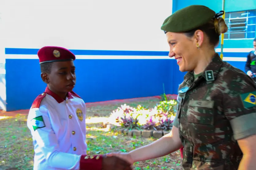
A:
<svg viewBox="0 0 256 170">
<path fill-rule="evenodd" d="M 169 57 L 175 57 L 181 72 L 192 71 L 197 65 L 197 42 L 183 33 L 167 32 Z"/>
</svg>

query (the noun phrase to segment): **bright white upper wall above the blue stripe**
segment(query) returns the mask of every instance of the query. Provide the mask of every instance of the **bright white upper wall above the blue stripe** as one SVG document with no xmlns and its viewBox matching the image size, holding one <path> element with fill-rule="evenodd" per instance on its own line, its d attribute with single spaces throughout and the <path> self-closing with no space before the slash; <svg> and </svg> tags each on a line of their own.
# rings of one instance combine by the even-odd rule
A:
<svg viewBox="0 0 256 170">
<path fill-rule="evenodd" d="M 2 0 L 6 48 L 168 51 L 172 0 Z"/>
</svg>

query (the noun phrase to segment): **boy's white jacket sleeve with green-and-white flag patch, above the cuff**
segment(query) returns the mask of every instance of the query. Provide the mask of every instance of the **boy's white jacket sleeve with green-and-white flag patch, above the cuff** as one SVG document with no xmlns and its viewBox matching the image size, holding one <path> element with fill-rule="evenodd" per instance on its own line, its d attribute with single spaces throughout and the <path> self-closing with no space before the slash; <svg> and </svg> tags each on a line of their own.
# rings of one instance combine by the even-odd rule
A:
<svg viewBox="0 0 256 170">
<path fill-rule="evenodd" d="M 35 152 L 43 153 L 49 166 L 62 169 L 79 169 L 81 155 L 60 151 L 58 139 L 52 130 L 48 110 L 30 109 L 27 126 L 32 134 Z"/>
</svg>

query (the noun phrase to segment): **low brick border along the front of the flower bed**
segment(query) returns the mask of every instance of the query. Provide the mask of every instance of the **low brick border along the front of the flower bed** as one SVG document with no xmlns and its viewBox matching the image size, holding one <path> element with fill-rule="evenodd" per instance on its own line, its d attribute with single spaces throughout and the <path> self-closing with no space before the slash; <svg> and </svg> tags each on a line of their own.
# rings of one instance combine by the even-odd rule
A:
<svg viewBox="0 0 256 170">
<path fill-rule="evenodd" d="M 156 139 L 160 139 L 162 138 L 162 136 L 170 133 L 170 131 L 155 131 L 155 130 L 136 130 L 136 129 L 132 129 L 132 130 L 128 130 L 125 128 L 118 128 L 115 125 L 112 124 L 107 124 L 106 128 L 109 130 L 114 130 L 115 132 L 117 132 L 118 134 L 123 134 L 123 135 L 127 135 L 127 136 L 137 136 L 137 137 L 142 137 L 142 138 L 156 138 Z"/>
</svg>

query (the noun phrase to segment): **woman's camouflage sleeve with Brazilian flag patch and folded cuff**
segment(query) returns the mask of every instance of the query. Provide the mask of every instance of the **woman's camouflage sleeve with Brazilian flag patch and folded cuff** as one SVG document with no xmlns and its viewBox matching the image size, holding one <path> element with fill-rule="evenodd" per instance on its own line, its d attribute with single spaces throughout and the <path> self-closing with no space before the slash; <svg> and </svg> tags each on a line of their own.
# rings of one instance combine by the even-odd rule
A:
<svg viewBox="0 0 256 170">
<path fill-rule="evenodd" d="M 256 134 L 256 88 L 249 76 L 232 70 L 227 72 L 228 77 L 224 79 L 227 89 L 224 93 L 223 109 L 230 121 L 234 138 L 239 140 Z"/>
</svg>

